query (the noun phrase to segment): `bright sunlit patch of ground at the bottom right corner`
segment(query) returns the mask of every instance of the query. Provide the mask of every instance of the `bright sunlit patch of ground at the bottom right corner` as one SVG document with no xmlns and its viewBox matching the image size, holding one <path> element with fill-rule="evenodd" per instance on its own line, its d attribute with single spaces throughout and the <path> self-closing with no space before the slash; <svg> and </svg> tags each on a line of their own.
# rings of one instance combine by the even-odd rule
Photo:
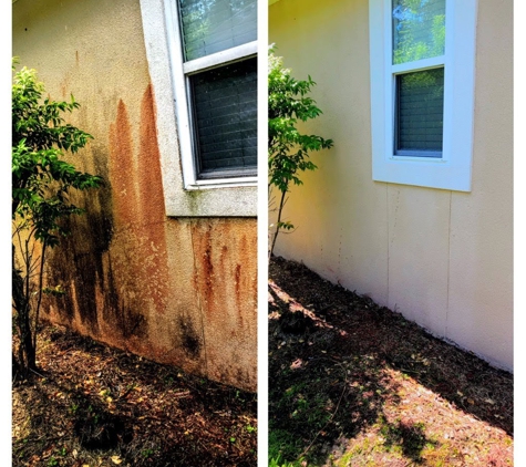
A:
<svg viewBox="0 0 526 467">
<path fill-rule="evenodd" d="M 504 430 L 476 419 L 404 372 L 385 369 L 384 375 L 393 394 L 384 399 L 382 414 L 353 439 L 339 439 L 328 466 L 513 465 L 513 439 Z"/>
</svg>

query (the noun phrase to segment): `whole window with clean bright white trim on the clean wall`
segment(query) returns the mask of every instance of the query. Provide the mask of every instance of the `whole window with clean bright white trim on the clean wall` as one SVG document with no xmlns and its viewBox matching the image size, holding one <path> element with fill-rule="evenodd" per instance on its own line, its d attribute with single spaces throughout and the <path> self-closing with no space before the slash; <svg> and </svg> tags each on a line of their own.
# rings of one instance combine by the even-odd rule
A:
<svg viewBox="0 0 526 467">
<path fill-rule="evenodd" d="M 471 190 L 476 0 L 370 0 L 373 179 Z"/>
</svg>

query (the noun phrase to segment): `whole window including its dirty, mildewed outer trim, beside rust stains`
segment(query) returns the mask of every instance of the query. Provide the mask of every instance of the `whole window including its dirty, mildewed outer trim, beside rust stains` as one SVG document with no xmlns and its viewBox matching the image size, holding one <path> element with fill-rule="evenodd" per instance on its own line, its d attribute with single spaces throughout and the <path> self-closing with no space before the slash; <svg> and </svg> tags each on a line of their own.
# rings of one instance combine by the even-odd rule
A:
<svg viewBox="0 0 526 467">
<path fill-rule="evenodd" d="M 255 217 L 257 1 L 140 2 L 166 214 Z"/>
</svg>

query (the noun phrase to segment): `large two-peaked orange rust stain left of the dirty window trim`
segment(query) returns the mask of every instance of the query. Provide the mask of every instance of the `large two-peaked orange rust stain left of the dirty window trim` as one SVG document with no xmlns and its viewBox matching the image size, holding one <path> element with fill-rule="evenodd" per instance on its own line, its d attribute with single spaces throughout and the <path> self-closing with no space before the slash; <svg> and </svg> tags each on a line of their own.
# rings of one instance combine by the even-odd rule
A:
<svg viewBox="0 0 526 467">
<path fill-rule="evenodd" d="M 141 105 L 138 155 L 134 157 L 132 131 L 124 102 L 117 105 L 115 123 L 110 127 L 110 176 L 116 230 L 135 232 L 128 241 L 133 256 L 115 258 L 120 274 L 127 278 L 135 301 L 151 302 L 164 313 L 169 283 L 166 263 L 166 217 L 161 177 L 159 152 L 155 129 L 152 86 L 146 87 Z M 132 284 L 135 284 L 134 287 Z"/>
</svg>

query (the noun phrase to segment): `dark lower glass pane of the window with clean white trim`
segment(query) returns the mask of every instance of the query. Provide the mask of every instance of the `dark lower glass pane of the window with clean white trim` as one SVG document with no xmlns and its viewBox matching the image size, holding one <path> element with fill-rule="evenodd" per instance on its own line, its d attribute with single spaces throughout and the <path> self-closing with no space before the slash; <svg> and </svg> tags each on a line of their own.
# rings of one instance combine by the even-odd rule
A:
<svg viewBox="0 0 526 467">
<path fill-rule="evenodd" d="M 442 157 L 443 114 L 443 68 L 398 75 L 395 154 Z"/>
</svg>

